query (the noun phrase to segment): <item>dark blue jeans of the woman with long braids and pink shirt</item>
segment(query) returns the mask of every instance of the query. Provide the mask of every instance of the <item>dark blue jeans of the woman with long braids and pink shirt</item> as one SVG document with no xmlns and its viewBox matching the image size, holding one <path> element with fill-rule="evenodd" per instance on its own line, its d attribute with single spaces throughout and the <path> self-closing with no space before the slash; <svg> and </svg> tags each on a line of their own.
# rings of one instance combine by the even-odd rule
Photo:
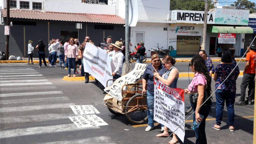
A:
<svg viewBox="0 0 256 144">
<path fill-rule="evenodd" d="M 196 110 L 196 105 L 193 105 L 193 110 Z M 207 144 L 206 134 L 205 134 L 205 119 L 208 117 L 210 112 L 210 106 L 202 106 L 199 113 L 204 116 L 203 121 L 200 123 L 199 127 L 195 129 L 196 134 L 196 144 Z M 195 114 L 193 115 L 193 121 L 196 120 Z"/>
</svg>

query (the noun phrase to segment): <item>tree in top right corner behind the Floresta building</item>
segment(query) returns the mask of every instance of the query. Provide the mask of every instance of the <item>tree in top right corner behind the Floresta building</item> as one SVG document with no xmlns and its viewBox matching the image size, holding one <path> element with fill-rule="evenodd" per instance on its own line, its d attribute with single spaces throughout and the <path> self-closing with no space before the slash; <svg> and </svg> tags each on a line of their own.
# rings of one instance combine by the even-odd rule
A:
<svg viewBox="0 0 256 144">
<path fill-rule="evenodd" d="M 236 7 L 236 9 L 250 10 L 250 13 L 256 13 L 255 3 L 248 0 L 237 0 L 234 4 L 231 4 L 230 6 Z"/>
</svg>

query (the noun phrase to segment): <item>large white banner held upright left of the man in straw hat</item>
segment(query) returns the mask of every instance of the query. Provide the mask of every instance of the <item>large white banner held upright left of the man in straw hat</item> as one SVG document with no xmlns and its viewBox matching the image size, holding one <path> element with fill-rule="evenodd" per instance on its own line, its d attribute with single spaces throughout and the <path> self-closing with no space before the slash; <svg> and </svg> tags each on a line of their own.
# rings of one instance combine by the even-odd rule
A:
<svg viewBox="0 0 256 144">
<path fill-rule="evenodd" d="M 86 43 L 83 64 L 84 71 L 94 76 L 103 86 L 106 86 L 107 80 L 113 79 L 108 53 L 91 43 Z"/>
</svg>

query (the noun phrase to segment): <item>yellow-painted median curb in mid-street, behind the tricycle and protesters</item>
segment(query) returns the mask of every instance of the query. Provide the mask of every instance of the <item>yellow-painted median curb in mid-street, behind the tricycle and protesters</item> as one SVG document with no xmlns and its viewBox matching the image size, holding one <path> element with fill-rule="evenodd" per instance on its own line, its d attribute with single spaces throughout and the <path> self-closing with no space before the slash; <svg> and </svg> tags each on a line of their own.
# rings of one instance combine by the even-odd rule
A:
<svg viewBox="0 0 256 144">
<path fill-rule="evenodd" d="M 239 76 L 243 75 L 243 71 L 240 71 Z M 181 77 L 191 77 L 193 78 L 195 76 L 195 74 L 193 72 L 180 72 L 179 73 L 179 78 Z M 212 74 L 213 77 L 213 74 Z M 66 77 L 64 76 L 62 80 L 65 81 L 85 81 L 85 77 L 84 76 L 76 76 L 76 77 Z M 89 76 L 89 80 L 95 80 L 95 78 L 93 76 Z"/>
</svg>

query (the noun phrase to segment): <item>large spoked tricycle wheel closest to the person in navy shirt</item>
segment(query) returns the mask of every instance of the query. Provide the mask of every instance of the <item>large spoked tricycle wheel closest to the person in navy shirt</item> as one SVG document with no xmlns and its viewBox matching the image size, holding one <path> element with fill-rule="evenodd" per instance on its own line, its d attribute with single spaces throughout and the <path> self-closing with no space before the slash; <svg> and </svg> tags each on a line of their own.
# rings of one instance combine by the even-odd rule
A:
<svg viewBox="0 0 256 144">
<path fill-rule="evenodd" d="M 127 119 L 134 124 L 144 123 L 148 119 L 147 97 L 141 94 L 134 95 L 126 104 Z"/>
</svg>

